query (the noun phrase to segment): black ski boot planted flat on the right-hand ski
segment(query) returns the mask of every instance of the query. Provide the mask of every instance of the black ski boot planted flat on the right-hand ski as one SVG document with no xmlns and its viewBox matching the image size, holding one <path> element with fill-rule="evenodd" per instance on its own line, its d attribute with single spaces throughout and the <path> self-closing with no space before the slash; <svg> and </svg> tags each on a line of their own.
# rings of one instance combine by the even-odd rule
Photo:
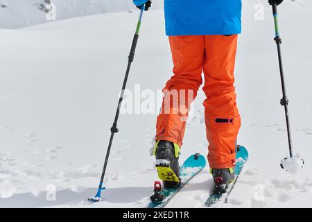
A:
<svg viewBox="0 0 312 222">
<path fill-rule="evenodd" d="M 211 169 L 214 178 L 214 194 L 223 194 L 227 191 L 229 184 L 234 181 L 235 175 L 233 168 Z"/>
</svg>

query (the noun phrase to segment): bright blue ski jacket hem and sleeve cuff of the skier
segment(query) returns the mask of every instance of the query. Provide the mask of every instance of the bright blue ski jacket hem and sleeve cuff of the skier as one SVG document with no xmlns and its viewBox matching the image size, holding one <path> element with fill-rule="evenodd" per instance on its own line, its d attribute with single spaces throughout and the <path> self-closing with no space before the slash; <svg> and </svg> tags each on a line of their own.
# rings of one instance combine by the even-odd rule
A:
<svg viewBox="0 0 312 222">
<path fill-rule="evenodd" d="M 148 0 L 133 0 L 141 6 Z M 241 33 L 241 0 L 164 0 L 166 35 Z"/>
</svg>

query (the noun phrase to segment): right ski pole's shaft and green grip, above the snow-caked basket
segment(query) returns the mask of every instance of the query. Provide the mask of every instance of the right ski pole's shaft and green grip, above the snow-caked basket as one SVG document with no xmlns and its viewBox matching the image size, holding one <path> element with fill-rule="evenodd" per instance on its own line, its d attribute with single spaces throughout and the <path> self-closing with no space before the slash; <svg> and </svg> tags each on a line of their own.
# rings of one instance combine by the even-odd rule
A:
<svg viewBox="0 0 312 222">
<path fill-rule="evenodd" d="M 280 77 L 281 77 L 281 89 L 282 89 L 282 93 L 283 93 L 283 98 L 281 99 L 281 105 L 284 106 L 284 110 L 285 110 L 289 155 L 290 155 L 290 157 L 293 157 L 293 143 L 292 143 L 292 139 L 291 139 L 291 124 L 289 121 L 289 114 L 288 114 L 288 98 L 287 98 L 287 94 L 286 94 L 283 61 L 281 59 L 281 37 L 279 36 L 279 28 L 278 28 L 278 23 L 277 23 L 277 5 L 276 5 L 275 0 L 272 1 L 272 11 L 273 11 L 273 15 L 275 17 L 276 36 L 275 36 L 274 40 L 277 44 L 277 53 L 278 53 L 278 58 L 279 58 L 279 72 L 280 72 Z"/>
</svg>

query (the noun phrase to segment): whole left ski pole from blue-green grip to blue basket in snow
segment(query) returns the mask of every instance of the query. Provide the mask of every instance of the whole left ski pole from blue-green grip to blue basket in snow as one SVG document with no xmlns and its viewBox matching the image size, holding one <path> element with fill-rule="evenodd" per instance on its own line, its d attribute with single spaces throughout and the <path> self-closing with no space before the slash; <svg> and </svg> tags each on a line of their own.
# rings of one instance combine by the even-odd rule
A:
<svg viewBox="0 0 312 222">
<path fill-rule="evenodd" d="M 132 46 L 130 49 L 130 53 L 128 56 L 128 67 L 127 70 L 125 71 L 125 78 L 123 80 L 123 86 L 121 88 L 121 94 L 119 97 L 119 103 L 117 106 L 117 110 L 116 110 L 116 114 L 115 114 L 115 118 L 114 118 L 114 123 L 112 124 L 112 128 L 110 128 L 110 142 L 108 144 L 108 148 L 107 148 L 107 153 L 106 153 L 106 157 L 105 157 L 105 162 L 104 162 L 104 166 L 103 166 L 103 171 L 102 171 L 102 175 L 101 175 L 101 180 L 100 180 L 100 184 L 98 185 L 98 191 L 96 192 L 96 196 L 89 198 L 88 200 L 93 201 L 93 202 L 98 202 L 101 200 L 101 191 L 103 189 L 105 189 L 105 187 L 103 186 L 103 180 L 104 180 L 104 176 L 105 176 L 105 171 L 106 171 L 106 167 L 107 167 L 107 162 L 108 162 L 108 158 L 110 156 L 110 149 L 112 148 L 112 142 L 114 139 L 114 134 L 118 133 L 119 129 L 117 128 L 117 122 L 118 122 L 118 118 L 119 118 L 119 112 L 120 112 L 120 106 L 121 103 L 123 101 L 123 95 L 125 92 L 125 86 L 127 85 L 127 81 L 128 81 L 128 76 L 129 76 L 129 72 L 130 72 L 130 67 L 131 67 L 131 63 L 133 62 L 134 58 L 135 58 L 135 49 L 137 48 L 137 42 L 139 39 L 139 31 L 141 28 L 141 21 L 142 21 L 142 17 L 143 17 L 143 12 L 144 12 L 145 7 L 142 6 L 141 7 L 141 12 L 139 15 L 139 21 L 137 22 L 137 28 L 135 31 L 135 36 L 133 37 L 132 40 Z"/>
</svg>

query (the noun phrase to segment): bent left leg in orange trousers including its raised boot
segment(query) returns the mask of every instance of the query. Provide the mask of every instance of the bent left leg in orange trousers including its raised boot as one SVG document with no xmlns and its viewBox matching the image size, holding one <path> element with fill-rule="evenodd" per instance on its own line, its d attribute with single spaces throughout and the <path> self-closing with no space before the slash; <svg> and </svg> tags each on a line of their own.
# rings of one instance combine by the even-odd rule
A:
<svg viewBox="0 0 312 222">
<path fill-rule="evenodd" d="M 204 36 L 169 37 L 174 75 L 164 87 L 154 154 L 165 187 L 180 184 L 179 152 L 191 102 L 202 84 Z"/>
</svg>

